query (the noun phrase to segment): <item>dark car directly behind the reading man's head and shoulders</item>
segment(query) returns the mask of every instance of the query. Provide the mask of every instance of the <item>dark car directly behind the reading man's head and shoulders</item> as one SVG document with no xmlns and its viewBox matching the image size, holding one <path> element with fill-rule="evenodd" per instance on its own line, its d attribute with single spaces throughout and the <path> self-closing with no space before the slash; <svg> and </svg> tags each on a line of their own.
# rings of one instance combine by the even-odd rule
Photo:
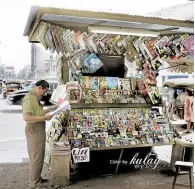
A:
<svg viewBox="0 0 195 189">
<path fill-rule="evenodd" d="M 47 93 L 42 97 L 41 101 L 44 103 L 44 105 L 50 105 L 49 102 L 52 92 L 54 89 L 57 88 L 58 82 L 57 81 L 48 81 L 49 83 L 49 90 Z M 22 99 L 24 96 L 29 92 L 30 89 L 32 89 L 36 84 L 36 81 L 32 82 L 28 87 L 22 90 L 18 90 L 16 92 L 11 93 L 7 97 L 7 103 L 9 105 L 21 105 Z"/>
</svg>

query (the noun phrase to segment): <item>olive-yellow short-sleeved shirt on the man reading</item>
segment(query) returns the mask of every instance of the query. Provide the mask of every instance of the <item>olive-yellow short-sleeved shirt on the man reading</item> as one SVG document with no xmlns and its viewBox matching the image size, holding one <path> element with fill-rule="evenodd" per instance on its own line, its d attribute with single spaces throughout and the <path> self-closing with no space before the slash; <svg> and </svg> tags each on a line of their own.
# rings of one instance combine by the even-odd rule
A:
<svg viewBox="0 0 195 189">
<path fill-rule="evenodd" d="M 40 104 L 38 97 L 33 94 L 32 91 L 23 98 L 22 100 L 22 113 L 31 113 L 32 116 L 44 116 L 43 106 Z"/>
</svg>

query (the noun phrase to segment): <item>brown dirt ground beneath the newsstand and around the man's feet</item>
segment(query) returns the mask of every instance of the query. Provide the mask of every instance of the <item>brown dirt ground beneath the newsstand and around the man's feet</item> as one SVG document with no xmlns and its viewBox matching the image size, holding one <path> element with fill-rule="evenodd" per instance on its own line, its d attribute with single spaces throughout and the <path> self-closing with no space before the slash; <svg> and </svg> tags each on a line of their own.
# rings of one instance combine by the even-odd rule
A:
<svg viewBox="0 0 195 189">
<path fill-rule="evenodd" d="M 0 189 L 28 189 L 28 163 L 0 164 Z M 50 183 L 42 186 L 42 189 L 169 189 L 173 182 L 173 172 L 163 164 L 159 164 L 157 169 L 141 169 L 120 173 L 112 176 L 96 177 L 85 180 L 77 180 L 69 186 L 54 186 Z M 49 178 L 49 166 L 44 165 L 44 178 Z M 178 177 L 180 183 L 189 183 L 188 175 Z M 180 187 L 182 188 L 182 187 Z"/>
</svg>

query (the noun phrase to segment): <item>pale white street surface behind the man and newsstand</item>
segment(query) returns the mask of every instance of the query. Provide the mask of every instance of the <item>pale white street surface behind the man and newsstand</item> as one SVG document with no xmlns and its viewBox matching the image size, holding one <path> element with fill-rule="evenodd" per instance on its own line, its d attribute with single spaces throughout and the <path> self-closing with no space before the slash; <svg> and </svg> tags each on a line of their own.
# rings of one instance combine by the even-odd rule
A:
<svg viewBox="0 0 195 189">
<path fill-rule="evenodd" d="M 24 129 L 21 106 L 10 106 L 0 96 L 0 163 L 27 160 Z M 159 159 L 170 162 L 172 146 L 158 146 L 154 150 Z"/>
</svg>

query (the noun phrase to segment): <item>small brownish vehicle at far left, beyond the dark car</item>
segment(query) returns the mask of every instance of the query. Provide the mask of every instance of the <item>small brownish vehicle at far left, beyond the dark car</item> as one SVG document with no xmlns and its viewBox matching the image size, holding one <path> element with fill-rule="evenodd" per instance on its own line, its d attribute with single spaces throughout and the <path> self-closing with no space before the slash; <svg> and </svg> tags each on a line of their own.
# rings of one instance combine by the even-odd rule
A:
<svg viewBox="0 0 195 189">
<path fill-rule="evenodd" d="M 3 98 L 4 98 L 4 99 L 6 99 L 7 96 L 8 96 L 10 93 L 22 89 L 22 84 L 21 84 L 21 82 L 19 82 L 19 81 L 7 81 L 7 82 L 5 83 L 5 85 L 6 85 L 6 86 L 5 86 L 5 90 L 4 90 L 4 92 L 3 92 Z"/>
</svg>

